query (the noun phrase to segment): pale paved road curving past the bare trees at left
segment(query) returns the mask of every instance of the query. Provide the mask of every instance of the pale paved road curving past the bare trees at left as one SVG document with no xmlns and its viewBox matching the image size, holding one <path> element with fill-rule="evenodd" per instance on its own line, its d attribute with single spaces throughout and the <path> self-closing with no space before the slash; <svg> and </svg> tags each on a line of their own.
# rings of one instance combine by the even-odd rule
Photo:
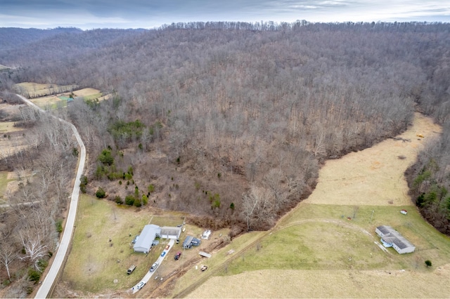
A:
<svg viewBox="0 0 450 299">
<path fill-rule="evenodd" d="M 27 100 L 26 98 L 24 98 L 22 95 L 18 95 L 18 96 L 25 103 L 27 103 L 27 105 L 34 107 L 36 109 L 39 109 L 39 111 L 41 111 L 41 112 L 45 112 L 43 109 L 37 107 L 37 105 L 35 105 L 30 100 Z M 79 154 L 79 164 L 78 164 L 75 184 L 74 184 L 73 190 L 72 190 L 72 197 L 70 197 L 70 207 L 69 207 L 67 221 L 65 222 L 63 238 L 61 238 L 60 244 L 58 246 L 58 251 L 56 251 L 56 255 L 53 260 L 53 263 L 51 264 L 50 270 L 47 273 L 44 281 L 42 281 L 42 284 L 39 287 L 39 290 L 37 291 L 35 298 L 46 298 L 49 295 L 51 287 L 53 286 L 53 282 L 55 281 L 56 277 L 58 276 L 58 272 L 60 271 L 60 267 L 63 265 L 65 255 L 68 252 L 70 241 L 72 240 L 73 226 L 75 224 L 75 216 L 77 215 L 77 206 L 78 206 L 78 198 L 79 198 L 79 182 L 80 182 L 80 178 L 83 174 L 84 163 L 86 162 L 86 147 L 84 147 L 84 143 L 82 141 L 82 138 L 79 136 L 77 128 L 75 128 L 75 126 L 73 124 L 70 124 L 70 122 L 68 122 L 68 121 L 59 119 L 58 117 L 55 117 L 55 118 L 65 124 L 68 124 L 72 128 L 72 131 L 75 134 L 75 138 L 77 138 L 77 142 L 79 144 L 81 151 Z"/>
</svg>

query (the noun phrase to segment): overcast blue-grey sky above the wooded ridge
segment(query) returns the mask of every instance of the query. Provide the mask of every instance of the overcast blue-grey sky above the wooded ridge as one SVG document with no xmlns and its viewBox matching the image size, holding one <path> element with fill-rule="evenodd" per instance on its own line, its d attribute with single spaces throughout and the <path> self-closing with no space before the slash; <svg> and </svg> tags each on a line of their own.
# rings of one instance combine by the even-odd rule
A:
<svg viewBox="0 0 450 299">
<path fill-rule="evenodd" d="M 0 0 L 0 27 L 154 28 L 261 20 L 450 22 L 450 0 Z"/>
</svg>

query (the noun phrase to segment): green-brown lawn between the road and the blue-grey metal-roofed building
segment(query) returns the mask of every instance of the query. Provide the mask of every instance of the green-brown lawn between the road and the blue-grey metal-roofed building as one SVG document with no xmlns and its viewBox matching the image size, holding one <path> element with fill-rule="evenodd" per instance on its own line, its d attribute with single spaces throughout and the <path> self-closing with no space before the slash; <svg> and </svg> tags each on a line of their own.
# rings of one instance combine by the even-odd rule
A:
<svg viewBox="0 0 450 299">
<path fill-rule="evenodd" d="M 153 215 L 134 207 L 117 206 L 105 199 L 83 194 L 79 202 L 72 249 L 61 282 L 73 291 L 105 293 L 131 288 L 148 272 L 168 242 L 152 248 L 148 255 L 134 253 L 131 241 L 144 225 L 175 226 L 179 215 Z M 130 265 L 136 270 L 127 274 Z"/>
</svg>

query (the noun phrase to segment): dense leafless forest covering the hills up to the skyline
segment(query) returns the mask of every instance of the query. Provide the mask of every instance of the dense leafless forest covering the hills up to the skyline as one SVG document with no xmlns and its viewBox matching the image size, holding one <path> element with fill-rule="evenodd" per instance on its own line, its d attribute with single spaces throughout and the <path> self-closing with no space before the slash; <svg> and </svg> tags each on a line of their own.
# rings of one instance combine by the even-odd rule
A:
<svg viewBox="0 0 450 299">
<path fill-rule="evenodd" d="M 423 112 L 444 133 L 409 170 L 411 194 L 449 234 L 449 30 L 299 21 L 31 32 L 16 48 L 0 44 L 0 64 L 15 67 L 0 73 L 0 88 L 34 81 L 109 94 L 57 112 L 88 147 L 85 191 L 186 211 L 233 235 L 271 227 L 311 192 L 323 161 L 397 135 Z M 46 146 L 40 136 L 37 149 Z M 20 167 L 36 170 L 33 161 Z"/>
</svg>

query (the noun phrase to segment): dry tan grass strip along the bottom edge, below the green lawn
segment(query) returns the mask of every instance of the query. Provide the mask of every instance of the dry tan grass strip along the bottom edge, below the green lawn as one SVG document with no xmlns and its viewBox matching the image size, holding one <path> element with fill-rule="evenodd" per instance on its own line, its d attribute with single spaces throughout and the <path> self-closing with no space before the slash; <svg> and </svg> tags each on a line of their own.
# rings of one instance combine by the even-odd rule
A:
<svg viewBox="0 0 450 299">
<path fill-rule="evenodd" d="M 450 265 L 421 272 L 260 270 L 212 277 L 188 298 L 448 298 L 449 276 Z"/>
</svg>

